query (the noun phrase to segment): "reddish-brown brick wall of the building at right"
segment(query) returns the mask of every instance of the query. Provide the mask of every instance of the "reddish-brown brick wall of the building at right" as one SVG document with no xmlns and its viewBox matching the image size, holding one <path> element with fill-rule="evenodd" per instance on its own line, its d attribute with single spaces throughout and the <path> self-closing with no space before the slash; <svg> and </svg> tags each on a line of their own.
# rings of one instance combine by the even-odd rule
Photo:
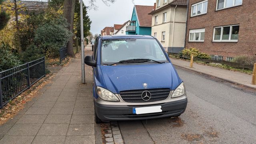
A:
<svg viewBox="0 0 256 144">
<path fill-rule="evenodd" d="M 206 14 L 190 17 L 191 5 L 201 0 L 189 0 L 186 48 L 195 47 L 210 55 L 235 57 L 256 54 L 256 0 L 243 0 L 242 5 L 216 10 L 216 0 L 208 0 Z M 212 42 L 215 26 L 239 24 L 238 42 Z M 189 30 L 205 28 L 204 42 L 188 42 Z"/>
</svg>

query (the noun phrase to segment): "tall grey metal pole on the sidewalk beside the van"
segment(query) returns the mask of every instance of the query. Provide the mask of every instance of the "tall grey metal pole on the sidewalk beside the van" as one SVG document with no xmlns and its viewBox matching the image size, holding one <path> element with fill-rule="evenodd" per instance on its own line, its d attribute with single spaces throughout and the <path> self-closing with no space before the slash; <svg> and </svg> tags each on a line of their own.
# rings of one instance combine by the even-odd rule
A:
<svg viewBox="0 0 256 144">
<path fill-rule="evenodd" d="M 80 30 L 81 30 L 81 66 L 82 66 L 82 84 L 85 83 L 84 72 L 84 21 L 83 21 L 83 0 L 80 0 Z"/>
</svg>

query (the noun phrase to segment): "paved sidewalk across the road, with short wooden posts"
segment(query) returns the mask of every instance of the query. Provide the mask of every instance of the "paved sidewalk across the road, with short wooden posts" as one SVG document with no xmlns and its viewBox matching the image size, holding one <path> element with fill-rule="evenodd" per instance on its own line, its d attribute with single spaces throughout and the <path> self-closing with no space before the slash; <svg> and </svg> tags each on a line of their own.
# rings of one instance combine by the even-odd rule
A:
<svg viewBox="0 0 256 144">
<path fill-rule="evenodd" d="M 186 68 L 195 72 L 200 72 L 209 76 L 220 78 L 234 84 L 240 84 L 248 86 L 250 88 L 256 88 L 256 85 L 250 84 L 252 82 L 252 76 L 249 74 L 243 74 L 241 72 L 234 72 L 231 70 L 223 70 L 212 66 L 205 66 L 201 64 L 193 63 L 193 68 L 190 68 L 190 62 L 184 60 L 177 60 L 170 58 L 174 66 Z"/>
</svg>

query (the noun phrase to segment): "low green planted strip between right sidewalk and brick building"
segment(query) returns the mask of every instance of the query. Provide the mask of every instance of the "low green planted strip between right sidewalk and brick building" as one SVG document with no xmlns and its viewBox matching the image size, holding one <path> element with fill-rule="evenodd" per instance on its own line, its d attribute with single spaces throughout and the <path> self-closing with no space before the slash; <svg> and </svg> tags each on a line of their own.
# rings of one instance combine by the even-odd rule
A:
<svg viewBox="0 0 256 144">
<path fill-rule="evenodd" d="M 168 52 L 168 54 L 170 54 L 172 56 L 177 56 L 177 57 L 180 57 L 180 58 L 186 58 L 186 59 L 190 60 L 190 56 L 186 56 L 186 55 L 180 56 L 179 54 L 174 54 L 174 53 L 170 53 L 170 52 Z M 224 60 L 210 60 L 210 59 L 201 59 L 201 58 L 194 58 L 194 60 L 201 61 L 201 62 L 206 62 L 206 63 L 226 64 L 228 66 L 232 66 L 232 67 L 235 67 L 235 68 L 247 68 L 247 69 L 253 70 L 253 65 L 248 65 L 248 64 L 239 64 L 239 63 L 236 63 L 236 62 L 228 62 L 228 61 L 224 61 Z"/>
</svg>

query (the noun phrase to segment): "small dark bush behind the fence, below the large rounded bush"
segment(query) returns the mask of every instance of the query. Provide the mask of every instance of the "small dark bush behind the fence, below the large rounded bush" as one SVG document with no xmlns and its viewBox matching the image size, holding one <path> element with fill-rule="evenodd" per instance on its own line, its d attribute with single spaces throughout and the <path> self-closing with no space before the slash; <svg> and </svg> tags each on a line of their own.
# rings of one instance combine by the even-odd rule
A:
<svg viewBox="0 0 256 144">
<path fill-rule="evenodd" d="M 22 62 L 31 62 L 33 60 L 37 60 L 38 58 L 42 58 L 43 56 L 42 50 L 32 44 L 28 46 L 24 52 L 22 52 L 21 60 Z"/>
</svg>

